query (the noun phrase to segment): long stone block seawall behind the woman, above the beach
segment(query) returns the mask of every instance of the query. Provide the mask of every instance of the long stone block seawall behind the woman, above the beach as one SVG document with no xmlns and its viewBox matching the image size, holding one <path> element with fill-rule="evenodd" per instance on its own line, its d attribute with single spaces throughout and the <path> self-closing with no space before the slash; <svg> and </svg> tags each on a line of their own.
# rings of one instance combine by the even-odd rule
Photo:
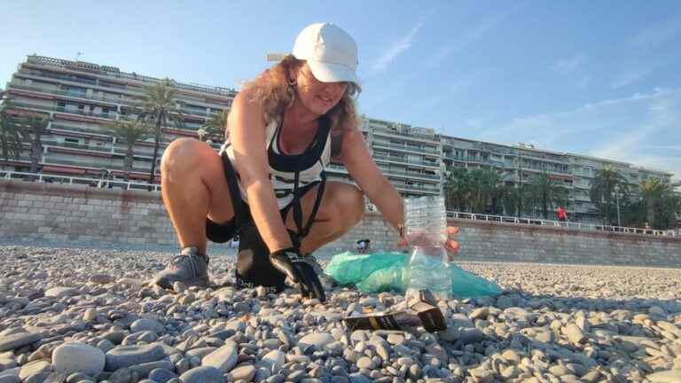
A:
<svg viewBox="0 0 681 383">
<path fill-rule="evenodd" d="M 459 226 L 459 259 L 681 267 L 681 238 L 579 231 L 513 223 L 452 220 Z M 351 250 L 370 238 L 374 249 L 395 249 L 395 231 L 380 215 L 325 250 Z M 176 246 L 160 194 L 88 186 L 0 181 L 0 239 L 57 243 Z"/>
</svg>

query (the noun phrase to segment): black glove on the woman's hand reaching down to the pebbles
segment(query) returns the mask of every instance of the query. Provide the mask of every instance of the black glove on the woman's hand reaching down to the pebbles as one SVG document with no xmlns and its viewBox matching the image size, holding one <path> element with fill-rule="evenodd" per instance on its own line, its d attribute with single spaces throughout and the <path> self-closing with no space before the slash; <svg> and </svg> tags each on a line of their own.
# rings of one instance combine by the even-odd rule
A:
<svg viewBox="0 0 681 383">
<path fill-rule="evenodd" d="M 301 286 L 303 297 L 326 301 L 324 287 L 308 260 L 294 247 L 278 250 L 270 254 L 272 266 L 286 274 L 286 277 Z"/>
</svg>

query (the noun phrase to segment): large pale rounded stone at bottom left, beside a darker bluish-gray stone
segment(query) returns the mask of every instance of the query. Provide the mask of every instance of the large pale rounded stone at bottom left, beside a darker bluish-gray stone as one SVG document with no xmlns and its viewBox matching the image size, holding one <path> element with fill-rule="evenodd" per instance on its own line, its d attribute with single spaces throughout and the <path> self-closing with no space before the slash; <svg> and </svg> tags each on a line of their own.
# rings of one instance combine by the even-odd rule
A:
<svg viewBox="0 0 681 383">
<path fill-rule="evenodd" d="M 79 342 L 62 344 L 52 351 L 55 371 L 82 372 L 94 377 L 104 370 L 105 363 L 101 349 Z"/>
</svg>

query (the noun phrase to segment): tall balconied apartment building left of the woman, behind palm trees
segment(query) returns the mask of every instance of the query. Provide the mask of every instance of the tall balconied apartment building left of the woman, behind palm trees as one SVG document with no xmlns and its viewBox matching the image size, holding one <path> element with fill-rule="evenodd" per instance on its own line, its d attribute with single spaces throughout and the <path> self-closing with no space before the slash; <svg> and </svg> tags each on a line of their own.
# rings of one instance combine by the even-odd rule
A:
<svg viewBox="0 0 681 383">
<path fill-rule="evenodd" d="M 111 176 L 121 177 L 126 148 L 107 133 L 106 124 L 123 117 L 129 106 L 139 106 L 144 87 L 159 81 L 114 66 L 34 55 L 18 66 L 6 93 L 18 113 L 49 117 L 40 164 L 43 173 L 99 177 L 102 169 L 108 169 Z M 161 151 L 177 137 L 198 137 L 197 130 L 213 113 L 229 108 L 237 94 L 228 88 L 170 82 L 184 113 L 184 129 L 163 128 Z M 147 180 L 152 159 L 153 138 L 138 142 L 131 180 Z M 28 151 L 19 160 L 5 162 L 17 171 L 27 171 L 29 164 Z"/>
</svg>

